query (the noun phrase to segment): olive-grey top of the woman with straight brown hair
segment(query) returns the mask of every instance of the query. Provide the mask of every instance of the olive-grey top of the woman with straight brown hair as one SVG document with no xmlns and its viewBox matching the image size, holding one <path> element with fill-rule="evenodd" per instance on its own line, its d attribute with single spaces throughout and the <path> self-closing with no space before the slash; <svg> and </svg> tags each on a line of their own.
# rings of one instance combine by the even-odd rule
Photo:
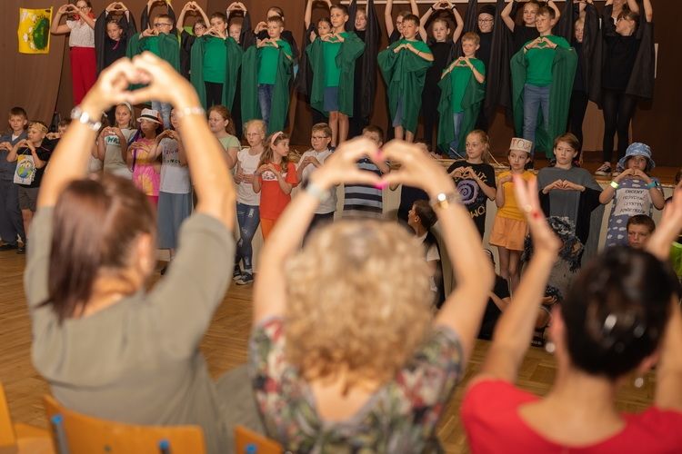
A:
<svg viewBox="0 0 682 454">
<path fill-rule="evenodd" d="M 48 297 L 53 210 L 31 223 L 25 294 L 33 362 L 65 407 L 132 424 L 196 424 L 208 452 L 225 450 L 227 431 L 216 386 L 199 351 L 230 281 L 235 240 L 225 225 L 194 214 L 180 231 L 167 274 L 151 291 L 87 317 L 58 322 Z"/>
</svg>

